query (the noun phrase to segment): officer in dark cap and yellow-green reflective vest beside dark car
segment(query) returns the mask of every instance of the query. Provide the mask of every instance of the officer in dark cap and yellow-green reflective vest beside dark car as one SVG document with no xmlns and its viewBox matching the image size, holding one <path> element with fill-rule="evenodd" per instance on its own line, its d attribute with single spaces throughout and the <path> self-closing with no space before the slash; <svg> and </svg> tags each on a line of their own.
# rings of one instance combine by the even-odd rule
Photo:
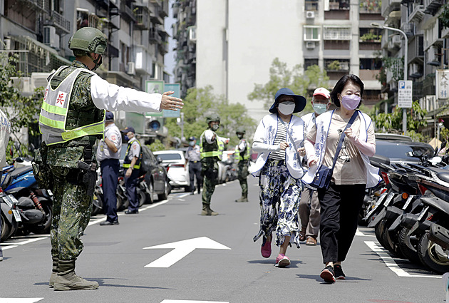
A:
<svg viewBox="0 0 449 303">
<path fill-rule="evenodd" d="M 139 200 L 137 194 L 137 180 L 139 177 L 140 163 L 142 161 L 142 148 L 140 142 L 135 138 L 135 130 L 128 126 L 123 133 L 128 138 L 128 149 L 126 150 L 125 159 L 123 159 L 123 168 L 125 168 L 125 185 L 126 197 L 130 202 L 128 210 L 125 210 L 126 215 L 139 213 Z"/>
</svg>

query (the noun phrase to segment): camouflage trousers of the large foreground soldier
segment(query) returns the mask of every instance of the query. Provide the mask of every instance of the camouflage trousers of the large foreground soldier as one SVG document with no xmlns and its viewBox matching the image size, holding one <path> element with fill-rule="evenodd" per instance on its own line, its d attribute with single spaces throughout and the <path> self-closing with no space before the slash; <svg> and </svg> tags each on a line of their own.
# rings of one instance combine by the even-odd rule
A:
<svg viewBox="0 0 449 303">
<path fill-rule="evenodd" d="M 51 256 L 74 260 L 83 251 L 83 235 L 91 219 L 93 196 L 86 185 L 68 182 L 66 176 L 76 175 L 73 168 L 51 167 L 53 174 L 53 220 L 51 221 Z"/>
</svg>

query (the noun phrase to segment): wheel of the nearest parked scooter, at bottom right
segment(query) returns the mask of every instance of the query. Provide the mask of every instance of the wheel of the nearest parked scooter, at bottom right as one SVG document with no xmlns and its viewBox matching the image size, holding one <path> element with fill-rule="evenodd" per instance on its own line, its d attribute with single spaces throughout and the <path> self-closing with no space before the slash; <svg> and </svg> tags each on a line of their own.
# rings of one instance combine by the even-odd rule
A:
<svg viewBox="0 0 449 303">
<path fill-rule="evenodd" d="M 418 256 L 425 267 L 433 272 L 443 274 L 449 272 L 448 251 L 428 239 L 428 232 L 420 238 L 418 244 Z"/>
</svg>

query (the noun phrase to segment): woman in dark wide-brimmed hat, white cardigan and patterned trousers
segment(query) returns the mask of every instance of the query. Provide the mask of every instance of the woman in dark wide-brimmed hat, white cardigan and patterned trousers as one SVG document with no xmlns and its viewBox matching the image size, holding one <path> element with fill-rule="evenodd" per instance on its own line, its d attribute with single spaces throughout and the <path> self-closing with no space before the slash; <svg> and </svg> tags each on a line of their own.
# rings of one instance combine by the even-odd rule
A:
<svg viewBox="0 0 449 303">
<path fill-rule="evenodd" d="M 304 121 L 292 113 L 299 113 L 305 106 L 303 96 L 289 88 L 279 89 L 269 108 L 271 114 L 257 126 L 252 145 L 259 153 L 252 175 L 259 177 L 260 188 L 260 230 L 254 242 L 263 236 L 262 257 L 269 257 L 275 231 L 279 267 L 290 265 L 285 255 L 290 242 L 299 248 L 298 207 L 304 175 L 299 155 L 305 155 L 304 148 L 300 148 L 304 143 Z"/>
</svg>

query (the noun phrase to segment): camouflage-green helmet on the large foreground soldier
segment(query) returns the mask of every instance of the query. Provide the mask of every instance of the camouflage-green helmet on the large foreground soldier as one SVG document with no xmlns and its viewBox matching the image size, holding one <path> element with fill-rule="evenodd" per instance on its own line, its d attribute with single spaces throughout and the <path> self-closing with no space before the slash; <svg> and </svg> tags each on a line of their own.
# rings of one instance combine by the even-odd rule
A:
<svg viewBox="0 0 449 303">
<path fill-rule="evenodd" d="M 106 36 L 93 27 L 83 27 L 78 29 L 68 41 L 68 48 L 71 50 L 86 51 L 86 53 L 98 53 L 103 55 L 108 46 Z"/>
</svg>

